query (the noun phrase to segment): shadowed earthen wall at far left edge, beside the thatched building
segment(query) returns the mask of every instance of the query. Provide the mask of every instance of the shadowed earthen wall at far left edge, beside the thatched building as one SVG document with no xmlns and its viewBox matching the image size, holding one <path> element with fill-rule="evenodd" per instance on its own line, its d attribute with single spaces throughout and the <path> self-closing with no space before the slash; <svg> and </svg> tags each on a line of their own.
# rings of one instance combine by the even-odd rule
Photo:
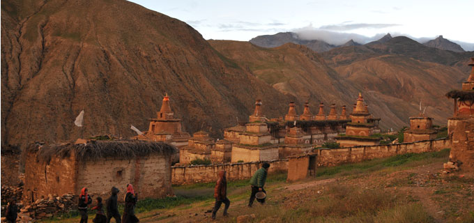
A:
<svg viewBox="0 0 474 223">
<path fill-rule="evenodd" d="M 17 187 L 20 180 L 20 148 L 1 146 L 1 185 Z"/>
</svg>

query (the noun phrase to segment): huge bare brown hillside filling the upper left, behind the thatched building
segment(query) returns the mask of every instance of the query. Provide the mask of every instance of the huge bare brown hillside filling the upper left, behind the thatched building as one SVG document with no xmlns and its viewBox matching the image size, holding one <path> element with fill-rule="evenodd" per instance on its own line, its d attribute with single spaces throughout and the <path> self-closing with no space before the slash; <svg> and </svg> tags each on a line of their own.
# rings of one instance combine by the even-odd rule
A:
<svg viewBox="0 0 474 223">
<path fill-rule="evenodd" d="M 131 137 L 130 125 L 148 129 L 165 93 L 184 130 L 215 136 L 245 120 L 256 98 L 268 116 L 294 100 L 188 24 L 135 3 L 1 1 L 2 145 Z"/>
</svg>

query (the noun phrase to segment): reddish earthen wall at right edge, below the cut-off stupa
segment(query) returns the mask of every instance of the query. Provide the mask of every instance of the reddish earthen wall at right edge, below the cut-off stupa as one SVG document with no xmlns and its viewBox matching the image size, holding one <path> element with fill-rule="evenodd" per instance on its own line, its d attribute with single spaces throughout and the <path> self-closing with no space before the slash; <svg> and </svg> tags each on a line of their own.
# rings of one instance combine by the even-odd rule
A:
<svg viewBox="0 0 474 223">
<path fill-rule="evenodd" d="M 452 134 L 450 161 L 462 162 L 461 170 L 474 171 L 474 118 L 457 123 Z"/>
</svg>

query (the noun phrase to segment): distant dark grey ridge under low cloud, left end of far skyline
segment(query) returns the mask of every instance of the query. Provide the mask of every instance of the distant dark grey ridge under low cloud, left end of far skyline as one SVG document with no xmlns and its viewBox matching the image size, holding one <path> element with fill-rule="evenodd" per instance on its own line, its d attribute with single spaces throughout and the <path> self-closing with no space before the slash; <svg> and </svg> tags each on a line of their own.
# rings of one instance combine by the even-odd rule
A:
<svg viewBox="0 0 474 223">
<path fill-rule="evenodd" d="M 285 43 L 294 43 L 298 45 L 305 45 L 314 52 L 326 52 L 337 46 L 330 45 L 322 40 L 301 40 L 297 33 L 276 33 L 275 35 L 257 36 L 250 40 L 250 43 L 259 47 L 273 48 L 280 47 Z"/>
</svg>

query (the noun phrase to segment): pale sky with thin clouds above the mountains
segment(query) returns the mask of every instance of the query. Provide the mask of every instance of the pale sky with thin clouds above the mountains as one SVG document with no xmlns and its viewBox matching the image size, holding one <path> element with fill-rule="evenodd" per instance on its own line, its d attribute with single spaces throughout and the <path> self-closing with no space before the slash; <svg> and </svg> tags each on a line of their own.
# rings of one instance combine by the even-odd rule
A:
<svg viewBox="0 0 474 223">
<path fill-rule="evenodd" d="M 474 50 L 474 1 L 468 0 L 132 2 L 186 22 L 206 40 L 248 41 L 291 31 L 337 45 L 350 39 L 368 43 L 390 33 L 420 43 L 443 35 Z"/>
</svg>

